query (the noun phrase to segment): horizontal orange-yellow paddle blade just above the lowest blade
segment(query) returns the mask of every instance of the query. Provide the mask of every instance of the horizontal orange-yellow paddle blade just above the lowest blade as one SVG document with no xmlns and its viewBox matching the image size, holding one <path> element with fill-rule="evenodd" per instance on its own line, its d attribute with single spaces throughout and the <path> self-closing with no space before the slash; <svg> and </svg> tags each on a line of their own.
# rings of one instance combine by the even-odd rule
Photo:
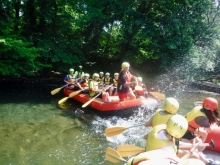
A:
<svg viewBox="0 0 220 165">
<path fill-rule="evenodd" d="M 140 152 L 144 152 L 145 149 L 132 144 L 126 144 L 126 145 L 119 145 L 117 147 L 117 151 L 122 157 L 128 157 L 128 156 L 137 155 Z"/>
</svg>

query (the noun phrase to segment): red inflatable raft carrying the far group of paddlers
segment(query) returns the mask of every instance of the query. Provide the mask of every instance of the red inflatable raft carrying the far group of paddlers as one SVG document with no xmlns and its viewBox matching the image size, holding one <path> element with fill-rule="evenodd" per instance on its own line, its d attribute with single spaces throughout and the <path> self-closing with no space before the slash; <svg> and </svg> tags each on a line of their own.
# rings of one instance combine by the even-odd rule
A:
<svg viewBox="0 0 220 165">
<path fill-rule="evenodd" d="M 69 88 L 64 89 L 64 95 L 69 96 L 73 90 Z M 78 95 L 72 97 L 72 99 L 79 101 L 81 103 L 86 103 L 92 98 L 88 94 L 79 93 Z M 156 110 L 158 108 L 158 100 L 155 98 L 138 98 L 135 100 L 121 101 L 119 102 L 118 96 L 110 96 L 112 102 L 105 101 L 101 98 L 95 98 L 88 106 L 105 114 L 109 112 L 118 112 L 128 109 L 134 109 L 138 107 L 147 107 L 150 110 Z"/>
</svg>

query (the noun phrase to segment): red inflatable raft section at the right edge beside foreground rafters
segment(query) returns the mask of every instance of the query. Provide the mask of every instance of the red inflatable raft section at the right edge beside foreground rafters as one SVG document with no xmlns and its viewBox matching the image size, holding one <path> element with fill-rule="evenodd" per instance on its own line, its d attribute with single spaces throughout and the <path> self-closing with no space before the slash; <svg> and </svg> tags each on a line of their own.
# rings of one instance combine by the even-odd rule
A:
<svg viewBox="0 0 220 165">
<path fill-rule="evenodd" d="M 215 148 L 213 150 L 220 152 L 220 127 L 214 124 L 211 128 L 212 132 L 208 133 L 205 142 L 209 142 L 212 139 L 215 143 Z M 207 149 L 212 150 L 211 146 L 208 146 Z"/>
</svg>

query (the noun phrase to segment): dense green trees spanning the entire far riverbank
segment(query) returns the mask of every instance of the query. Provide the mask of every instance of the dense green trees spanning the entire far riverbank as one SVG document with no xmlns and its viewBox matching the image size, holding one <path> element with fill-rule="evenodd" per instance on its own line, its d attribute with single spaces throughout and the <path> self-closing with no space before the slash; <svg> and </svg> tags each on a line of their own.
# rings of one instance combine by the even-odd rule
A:
<svg viewBox="0 0 220 165">
<path fill-rule="evenodd" d="M 214 2 L 0 1 L 0 58 L 10 54 L 8 66 L 18 59 L 18 68 L 4 65 L 2 75 L 66 72 L 87 62 L 110 66 L 124 60 L 136 66 L 153 62 L 163 70 L 200 57 L 209 59 L 206 68 L 214 71 L 215 58 L 201 49 L 212 52 L 213 40 L 219 38 L 219 6 Z M 204 66 L 192 61 L 194 69 Z"/>
</svg>

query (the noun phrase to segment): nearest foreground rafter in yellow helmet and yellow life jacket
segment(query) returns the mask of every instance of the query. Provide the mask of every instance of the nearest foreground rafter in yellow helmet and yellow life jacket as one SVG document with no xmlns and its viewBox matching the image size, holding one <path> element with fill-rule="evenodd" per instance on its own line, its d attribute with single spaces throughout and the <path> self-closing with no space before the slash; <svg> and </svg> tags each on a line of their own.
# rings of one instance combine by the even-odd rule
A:
<svg viewBox="0 0 220 165">
<path fill-rule="evenodd" d="M 174 140 L 175 138 L 181 138 L 187 131 L 187 128 L 188 122 L 184 116 L 177 114 L 173 115 L 166 124 L 157 125 L 152 128 L 146 142 L 146 152 L 158 151 L 161 153 L 164 151 L 165 155 L 158 155 L 158 157 L 173 157 L 175 160 L 179 161 L 179 158 L 176 156 L 177 147 Z M 149 157 L 143 157 L 142 154 L 139 154 L 131 157 L 127 165 L 138 165 L 142 161 L 149 159 Z"/>
</svg>

